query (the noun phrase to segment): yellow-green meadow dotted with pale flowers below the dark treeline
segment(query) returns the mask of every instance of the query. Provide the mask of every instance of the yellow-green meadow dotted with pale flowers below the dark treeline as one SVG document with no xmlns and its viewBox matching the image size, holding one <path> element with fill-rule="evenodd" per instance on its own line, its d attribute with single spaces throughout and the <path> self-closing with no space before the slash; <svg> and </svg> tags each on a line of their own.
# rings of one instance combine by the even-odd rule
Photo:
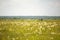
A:
<svg viewBox="0 0 60 40">
<path fill-rule="evenodd" d="M 60 40 L 60 20 L 0 19 L 0 40 Z"/>
</svg>

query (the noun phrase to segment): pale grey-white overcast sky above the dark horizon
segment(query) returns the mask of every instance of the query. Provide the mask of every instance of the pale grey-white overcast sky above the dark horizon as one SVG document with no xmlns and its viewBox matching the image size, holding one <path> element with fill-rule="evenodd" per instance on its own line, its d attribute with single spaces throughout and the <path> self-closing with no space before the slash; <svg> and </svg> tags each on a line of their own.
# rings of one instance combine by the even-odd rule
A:
<svg viewBox="0 0 60 40">
<path fill-rule="evenodd" d="M 60 16 L 60 0 L 0 0 L 0 16 Z"/>
</svg>

